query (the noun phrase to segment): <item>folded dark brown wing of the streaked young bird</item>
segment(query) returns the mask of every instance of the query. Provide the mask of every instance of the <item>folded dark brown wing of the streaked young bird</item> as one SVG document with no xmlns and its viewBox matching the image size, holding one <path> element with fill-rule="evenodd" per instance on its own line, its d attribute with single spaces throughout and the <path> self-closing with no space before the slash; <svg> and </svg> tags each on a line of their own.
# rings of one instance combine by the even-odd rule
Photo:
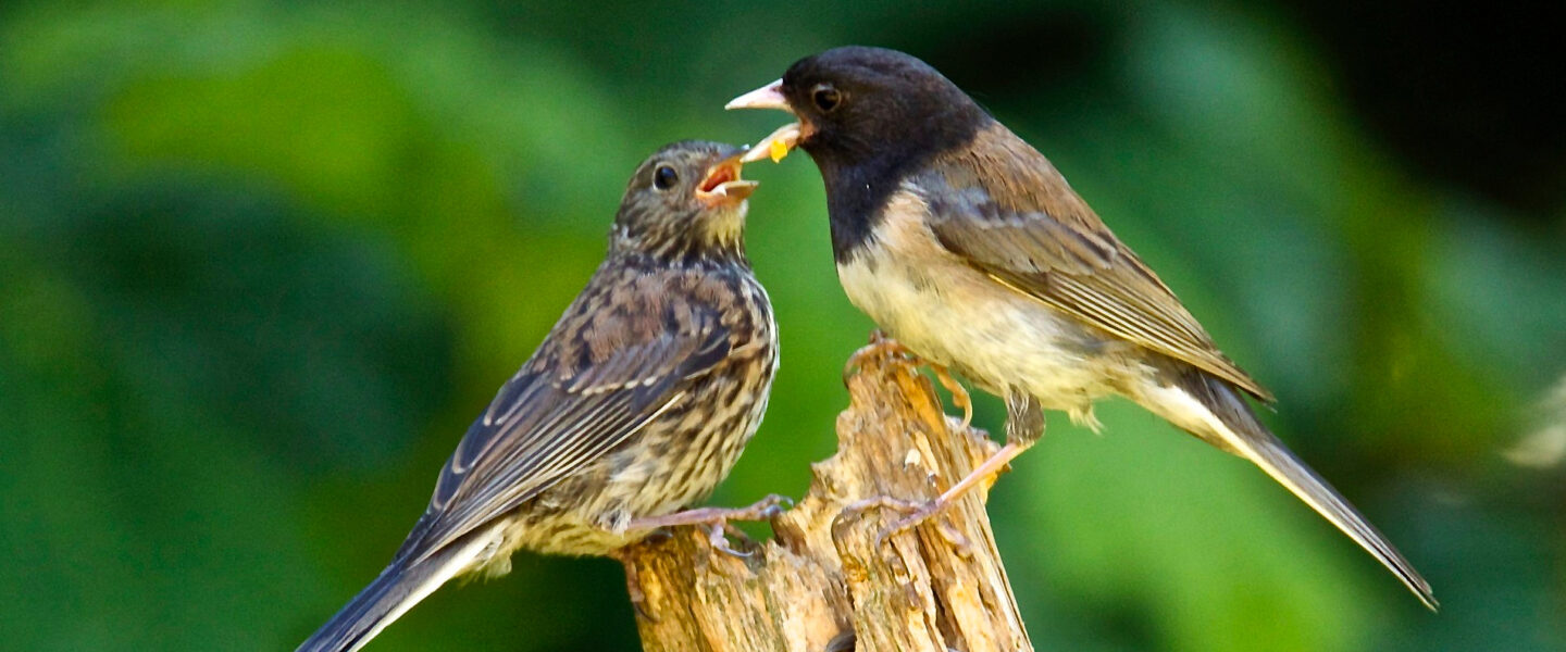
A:
<svg viewBox="0 0 1566 652">
<path fill-rule="evenodd" d="M 713 310 L 667 296 L 611 308 L 590 292 L 468 428 L 399 558 L 440 550 L 598 460 L 728 356 L 730 331 Z"/>
</svg>

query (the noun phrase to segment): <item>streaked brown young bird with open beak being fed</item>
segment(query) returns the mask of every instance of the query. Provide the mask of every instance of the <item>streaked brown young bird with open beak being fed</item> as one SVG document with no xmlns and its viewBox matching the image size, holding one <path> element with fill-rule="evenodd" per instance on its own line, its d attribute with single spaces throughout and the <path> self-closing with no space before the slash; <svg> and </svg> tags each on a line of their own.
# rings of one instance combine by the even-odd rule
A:
<svg viewBox="0 0 1566 652">
<path fill-rule="evenodd" d="M 357 650 L 446 580 L 511 553 L 611 555 L 700 508 L 761 424 L 777 325 L 745 258 L 741 150 L 677 142 L 636 169 L 609 255 L 457 444 L 392 564 L 299 650 Z"/>
</svg>

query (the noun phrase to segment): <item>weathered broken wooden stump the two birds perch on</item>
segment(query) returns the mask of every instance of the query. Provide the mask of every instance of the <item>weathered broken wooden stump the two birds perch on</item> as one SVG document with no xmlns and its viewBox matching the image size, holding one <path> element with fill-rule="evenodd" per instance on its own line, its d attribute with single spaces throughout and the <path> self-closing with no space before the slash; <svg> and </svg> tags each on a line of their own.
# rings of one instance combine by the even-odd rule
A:
<svg viewBox="0 0 1566 652">
<path fill-rule="evenodd" d="M 847 378 L 838 453 L 741 558 L 694 528 L 628 550 L 645 596 L 648 652 L 1032 650 L 990 532 L 988 486 L 875 546 L 902 511 L 983 461 L 996 444 L 947 417 L 924 375 L 863 355 Z"/>
</svg>

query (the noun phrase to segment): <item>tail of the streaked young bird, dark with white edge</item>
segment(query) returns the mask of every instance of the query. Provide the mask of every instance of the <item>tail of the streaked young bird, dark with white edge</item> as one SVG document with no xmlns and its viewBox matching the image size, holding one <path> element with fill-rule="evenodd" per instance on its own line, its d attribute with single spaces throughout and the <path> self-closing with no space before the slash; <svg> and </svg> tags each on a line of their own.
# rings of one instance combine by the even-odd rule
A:
<svg viewBox="0 0 1566 652">
<path fill-rule="evenodd" d="M 398 555 L 294 652 L 351 652 L 363 647 L 440 585 L 467 571 L 487 544 L 482 536 L 470 536 L 424 558 Z"/>
</svg>

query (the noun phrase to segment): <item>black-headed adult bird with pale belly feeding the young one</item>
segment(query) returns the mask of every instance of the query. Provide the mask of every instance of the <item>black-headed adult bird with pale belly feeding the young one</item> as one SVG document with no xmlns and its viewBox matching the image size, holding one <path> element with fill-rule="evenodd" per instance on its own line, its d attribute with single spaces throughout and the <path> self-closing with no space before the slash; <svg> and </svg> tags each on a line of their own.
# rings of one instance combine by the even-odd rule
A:
<svg viewBox="0 0 1566 652">
<path fill-rule="evenodd" d="M 797 117 L 745 159 L 797 145 L 816 161 L 853 305 L 938 372 L 951 366 L 1005 400 L 1005 447 L 899 527 L 1005 468 L 1043 433 L 1043 410 L 1096 428 L 1093 402 L 1118 394 L 1261 466 L 1436 608 L 1408 560 L 1256 419 L 1245 396 L 1272 394 L 1049 159 L 940 72 L 843 47 L 728 108 Z"/>
</svg>

